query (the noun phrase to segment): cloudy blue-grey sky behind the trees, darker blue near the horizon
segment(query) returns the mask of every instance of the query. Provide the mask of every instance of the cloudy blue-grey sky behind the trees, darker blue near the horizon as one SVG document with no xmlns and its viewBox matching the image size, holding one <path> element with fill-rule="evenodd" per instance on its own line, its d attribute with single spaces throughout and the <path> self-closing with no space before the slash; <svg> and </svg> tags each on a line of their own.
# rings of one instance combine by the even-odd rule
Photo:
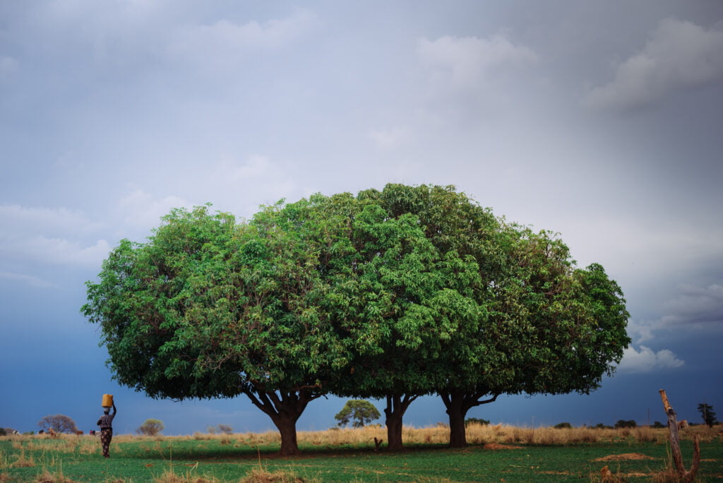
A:
<svg viewBox="0 0 723 483">
<path fill-rule="evenodd" d="M 679 419 L 723 416 L 722 127 L 719 0 L 0 0 L 0 427 L 96 429 L 112 393 L 119 433 L 273 429 L 244 396 L 120 387 L 85 281 L 171 208 L 249 219 L 390 182 L 555 231 L 627 299 L 633 342 L 602 388 L 468 416 L 664 422 L 659 389 Z M 446 420 L 429 396 L 405 424 Z"/>
</svg>

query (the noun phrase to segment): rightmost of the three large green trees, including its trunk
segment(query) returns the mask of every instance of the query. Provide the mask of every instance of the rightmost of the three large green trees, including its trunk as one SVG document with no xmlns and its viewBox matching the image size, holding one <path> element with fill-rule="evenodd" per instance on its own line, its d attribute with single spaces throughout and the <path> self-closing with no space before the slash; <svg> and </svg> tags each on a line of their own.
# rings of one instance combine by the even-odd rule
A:
<svg viewBox="0 0 723 483">
<path fill-rule="evenodd" d="M 630 342 L 623 294 L 602 266 L 575 268 L 565 244 L 546 231 L 501 225 L 499 246 L 498 271 L 481 274 L 485 315 L 455 339 L 438 389 L 453 447 L 466 445 L 469 409 L 502 393 L 589 393 Z"/>
</svg>

